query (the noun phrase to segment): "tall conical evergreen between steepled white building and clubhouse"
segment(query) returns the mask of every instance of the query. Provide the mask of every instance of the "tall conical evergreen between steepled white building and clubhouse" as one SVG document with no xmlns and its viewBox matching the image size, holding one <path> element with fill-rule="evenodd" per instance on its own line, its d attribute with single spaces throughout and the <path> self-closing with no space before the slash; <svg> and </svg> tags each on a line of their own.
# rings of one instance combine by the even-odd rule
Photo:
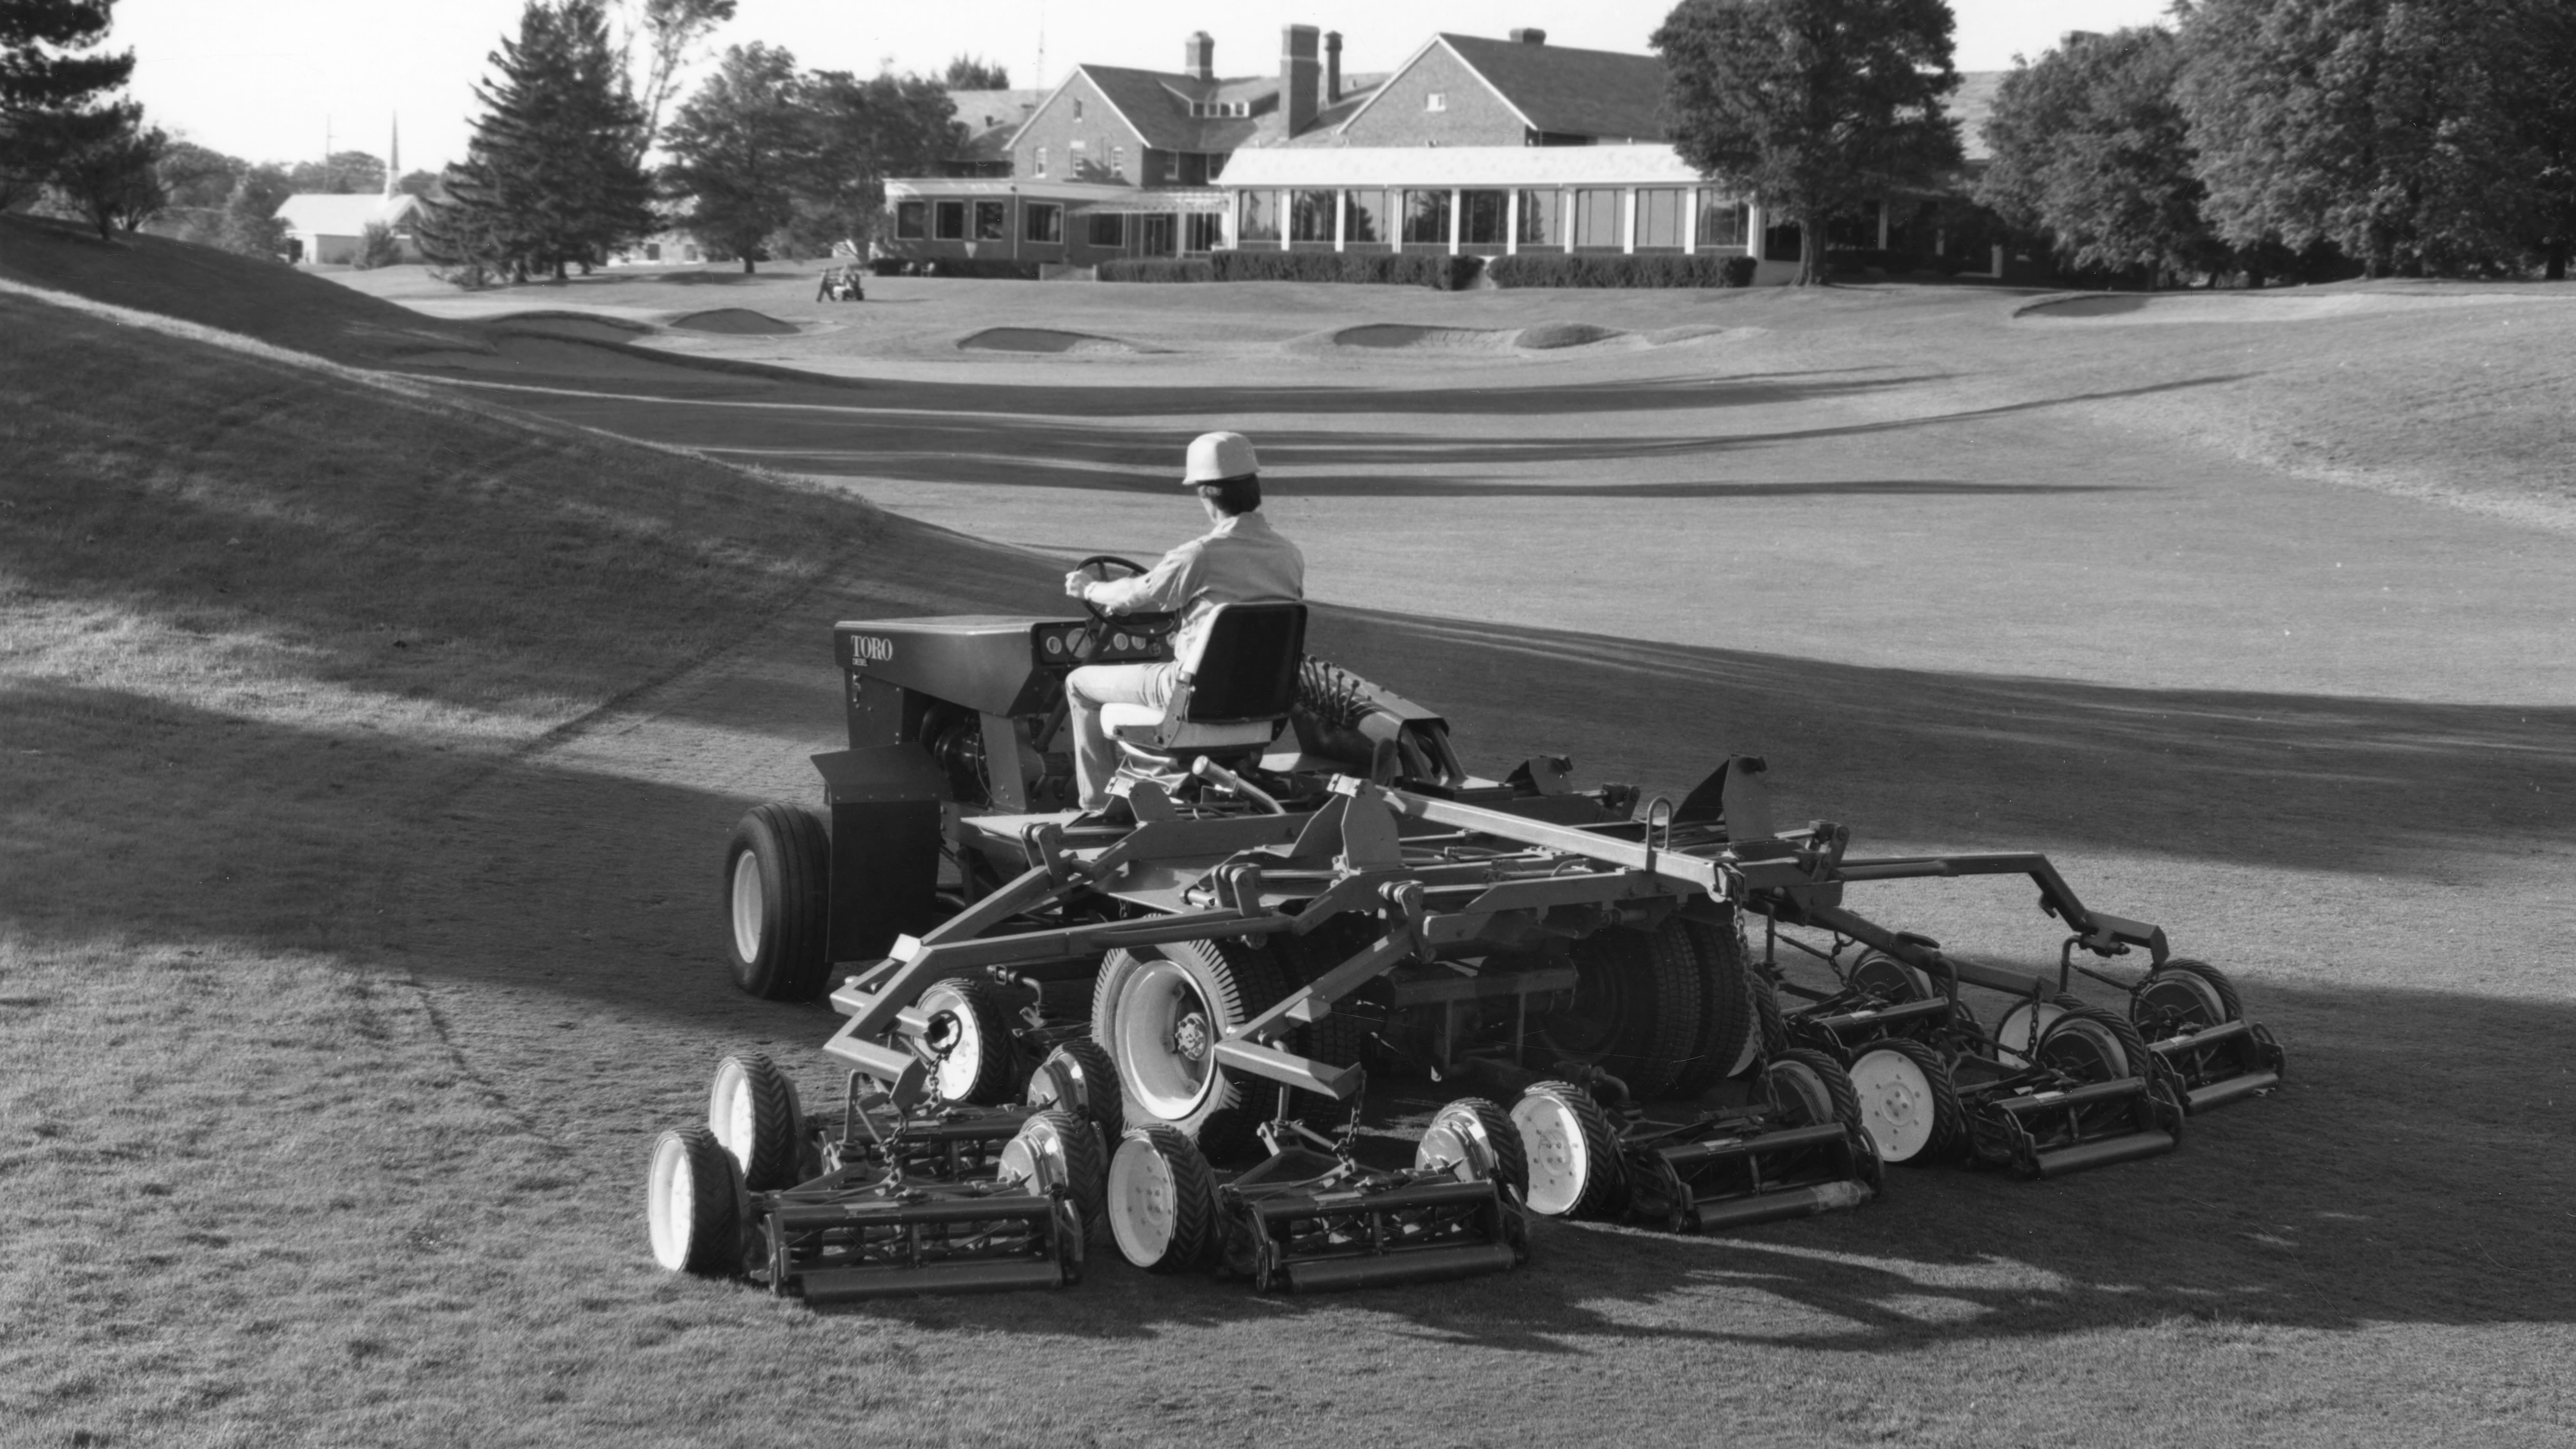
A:
<svg viewBox="0 0 2576 1449">
<path fill-rule="evenodd" d="M 477 85 L 466 160 L 448 199 L 425 204 L 420 250 L 469 273 L 564 276 L 654 227 L 652 186 L 634 160 L 641 113 L 608 49 L 600 0 L 528 0 L 518 39 Z"/>
</svg>

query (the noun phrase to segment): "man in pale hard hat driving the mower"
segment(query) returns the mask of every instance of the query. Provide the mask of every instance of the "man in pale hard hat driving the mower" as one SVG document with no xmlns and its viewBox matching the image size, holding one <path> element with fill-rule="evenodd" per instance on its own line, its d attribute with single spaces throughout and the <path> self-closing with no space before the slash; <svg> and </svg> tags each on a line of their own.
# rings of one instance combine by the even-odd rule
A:
<svg viewBox="0 0 2576 1449">
<path fill-rule="evenodd" d="M 1110 802 L 1110 776 L 1118 771 L 1118 745 L 1100 724 L 1103 704 L 1172 701 L 1177 660 L 1193 660 L 1218 603 L 1296 603 L 1306 598 L 1306 554 L 1262 518 L 1260 462 L 1252 438 L 1242 433 L 1200 433 L 1190 443 L 1182 487 L 1198 490 L 1198 503 L 1216 523 L 1203 536 L 1172 549 L 1151 570 L 1133 578 L 1095 578 L 1090 570 L 1064 575 L 1064 593 L 1103 614 L 1180 614 L 1172 660 L 1151 665 L 1082 665 L 1064 676 L 1066 717 L 1074 727 L 1074 784 L 1082 810 Z"/>
</svg>

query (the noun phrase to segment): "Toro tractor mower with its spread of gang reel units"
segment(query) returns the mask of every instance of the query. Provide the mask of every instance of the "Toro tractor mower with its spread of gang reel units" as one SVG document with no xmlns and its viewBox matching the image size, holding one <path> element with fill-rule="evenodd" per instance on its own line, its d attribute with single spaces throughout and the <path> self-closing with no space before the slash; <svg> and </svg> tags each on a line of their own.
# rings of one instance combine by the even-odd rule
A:
<svg viewBox="0 0 2576 1449">
<path fill-rule="evenodd" d="M 1131 1261 L 1231 1261 L 1265 1287 L 1499 1271 L 1522 1261 L 1522 1209 L 1695 1227 L 1855 1207 L 1878 1186 L 1868 1093 L 1839 1039 L 1788 1042 L 1752 918 L 1765 938 L 1829 931 L 1927 980 L 1976 980 L 1842 897 L 2009 869 L 2066 923 L 2069 959 L 2164 964 L 2159 928 L 2087 910 L 2043 856 L 1873 861 L 1839 825 L 1777 828 L 1759 758 L 1680 802 L 1579 789 L 1556 755 L 1473 776 L 1440 714 L 1306 657 L 1303 634 L 1298 603 L 1216 608 L 1164 706 L 1103 712 L 1115 802 L 1077 812 L 1064 676 L 1172 657 L 1172 619 L 837 624 L 848 748 L 814 755 L 822 810 L 744 815 L 721 887 L 742 990 L 827 995 L 845 1018 L 822 1047 L 850 1083 L 845 1127 L 783 1181 L 750 1168 L 750 1132 L 667 1137 L 657 1250 L 659 1225 L 698 1222 L 688 1194 L 716 1191 L 719 1155 L 750 1173 L 744 1194 L 770 1194 L 739 1212 L 770 1235 L 762 1271 L 809 1294 L 819 1274 L 855 1274 L 822 1279 L 837 1294 L 943 1263 L 1043 1279 L 1048 1256 L 1066 1281 L 1090 1201 Z M 2164 1013 L 2156 1034 L 2205 1047 L 2156 1057 L 2231 1070 L 2226 1008 L 2159 977 L 2138 993 Z M 1414 1168 L 1368 1168 L 1347 1132 L 1316 1132 L 1355 1111 L 1363 1062 L 1520 1101 L 1450 1104 Z M 1690 1106 L 1654 1106 L 1674 1101 Z M 933 1124 L 1030 1104 L 1059 1142 L 1077 1122 L 1110 1150 L 1097 1199 L 1077 1147 L 999 1163 L 1041 1116 L 989 1127 L 1005 1142 L 989 1176 L 912 1165 Z M 1069 1212 L 1041 1225 L 1005 1196 Z M 902 1253 L 824 1209 L 902 1225 Z M 708 1253 L 662 1261 L 734 1263 Z M 987 1274 L 1007 1276 L 963 1276 Z"/>
</svg>

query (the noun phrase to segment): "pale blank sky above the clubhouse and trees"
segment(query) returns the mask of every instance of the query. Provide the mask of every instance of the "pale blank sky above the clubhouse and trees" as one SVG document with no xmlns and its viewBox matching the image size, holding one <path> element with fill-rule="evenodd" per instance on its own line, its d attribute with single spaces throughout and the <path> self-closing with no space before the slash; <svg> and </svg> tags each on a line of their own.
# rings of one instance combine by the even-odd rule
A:
<svg viewBox="0 0 2576 1449">
<path fill-rule="evenodd" d="M 2061 31 L 2159 18 L 2166 0 L 1953 0 L 1958 67 L 2004 70 Z M 981 54 L 1012 85 L 1064 80 L 1077 62 L 1180 67 L 1180 41 L 1216 36 L 1218 75 L 1278 70 L 1280 26 L 1342 31 L 1342 70 L 1394 70 L 1435 31 L 1499 36 L 1540 26 L 1553 44 L 1643 52 L 1669 0 L 739 0 L 714 44 L 768 41 L 809 70 L 943 70 Z M 175 134 L 250 160 L 332 150 L 384 155 L 402 116 L 402 168 L 464 157 L 474 83 L 520 0 L 118 0 L 113 44 L 134 46 L 134 95 Z M 1043 41 L 1041 41 L 1043 36 Z M 1046 54 L 1041 70 L 1038 54 Z"/>
</svg>

